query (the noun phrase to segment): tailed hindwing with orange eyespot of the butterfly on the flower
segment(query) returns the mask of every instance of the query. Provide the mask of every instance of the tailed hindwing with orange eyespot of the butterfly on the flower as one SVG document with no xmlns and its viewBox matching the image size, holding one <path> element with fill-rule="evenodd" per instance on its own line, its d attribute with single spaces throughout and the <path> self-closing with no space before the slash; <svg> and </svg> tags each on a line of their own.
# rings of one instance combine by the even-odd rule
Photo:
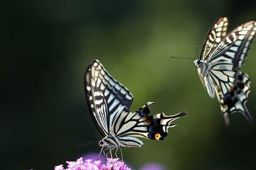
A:
<svg viewBox="0 0 256 170">
<path fill-rule="evenodd" d="M 114 121 L 111 129 L 113 135 L 117 135 L 123 143 L 129 138 L 130 141 L 131 139 L 136 141 L 136 138 L 132 137 L 163 140 L 168 134 L 168 128 L 175 126 L 175 124 L 172 124 L 172 121 L 187 114 L 181 112 L 172 116 L 166 116 L 164 113 L 159 113 L 150 116 L 149 106 L 151 104 L 154 103 L 148 102 L 133 113 L 128 109 L 124 109 Z"/>
</svg>

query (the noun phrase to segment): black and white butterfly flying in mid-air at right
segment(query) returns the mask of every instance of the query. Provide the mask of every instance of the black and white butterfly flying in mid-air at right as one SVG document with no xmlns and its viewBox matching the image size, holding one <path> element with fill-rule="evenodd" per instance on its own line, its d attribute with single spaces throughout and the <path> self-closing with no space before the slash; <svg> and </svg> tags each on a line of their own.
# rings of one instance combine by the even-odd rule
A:
<svg viewBox="0 0 256 170">
<path fill-rule="evenodd" d="M 250 78 L 238 71 L 245 62 L 250 44 L 255 37 L 256 20 L 243 23 L 227 34 L 228 18 L 218 18 L 210 27 L 200 59 L 194 61 L 201 82 L 210 97 L 220 103 L 226 125 L 228 115 L 240 112 L 252 122 L 245 103 L 250 92 Z"/>
</svg>

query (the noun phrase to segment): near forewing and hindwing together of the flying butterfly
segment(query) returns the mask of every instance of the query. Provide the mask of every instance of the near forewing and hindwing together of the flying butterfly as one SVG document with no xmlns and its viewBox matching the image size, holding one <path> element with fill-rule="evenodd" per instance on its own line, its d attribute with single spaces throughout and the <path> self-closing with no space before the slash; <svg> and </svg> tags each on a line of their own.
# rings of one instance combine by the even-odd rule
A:
<svg viewBox="0 0 256 170">
<path fill-rule="evenodd" d="M 209 52 L 207 62 L 222 113 L 240 112 L 249 121 L 252 118 L 245 103 L 250 92 L 250 78 L 237 69 L 245 62 L 255 31 L 256 20 L 240 25 Z"/>
</svg>

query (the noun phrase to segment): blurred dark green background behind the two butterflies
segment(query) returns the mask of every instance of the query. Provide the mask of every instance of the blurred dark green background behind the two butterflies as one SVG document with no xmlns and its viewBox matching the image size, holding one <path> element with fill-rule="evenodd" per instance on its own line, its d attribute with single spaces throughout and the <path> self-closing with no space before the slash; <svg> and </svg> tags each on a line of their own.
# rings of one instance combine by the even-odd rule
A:
<svg viewBox="0 0 256 170">
<path fill-rule="evenodd" d="M 6 1 L 1 5 L 1 169 L 53 169 L 100 147 L 86 105 L 84 70 L 94 58 L 134 95 L 135 111 L 188 115 L 165 141 L 123 148 L 135 169 L 253 169 L 256 123 L 242 114 L 225 127 L 191 60 L 212 22 L 229 16 L 229 30 L 256 16 L 256 1 Z M 256 118 L 256 42 L 242 71 L 249 74 L 247 108 Z"/>
</svg>

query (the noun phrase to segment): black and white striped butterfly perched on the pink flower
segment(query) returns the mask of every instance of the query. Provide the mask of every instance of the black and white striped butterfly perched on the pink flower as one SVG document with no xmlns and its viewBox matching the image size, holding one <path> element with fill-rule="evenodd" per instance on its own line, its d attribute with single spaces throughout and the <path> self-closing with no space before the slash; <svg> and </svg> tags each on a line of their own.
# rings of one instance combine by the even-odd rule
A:
<svg viewBox="0 0 256 170">
<path fill-rule="evenodd" d="M 150 116 L 149 106 L 154 104 L 150 101 L 137 111 L 130 112 L 133 95 L 110 76 L 97 59 L 85 71 L 84 87 L 90 115 L 103 137 L 98 145 L 102 147 L 101 152 L 105 148 L 111 155 L 115 149 L 117 156 L 120 147 L 141 147 L 143 142 L 137 137 L 163 140 L 168 128 L 175 126 L 172 121 L 187 114 L 181 112 L 166 116 L 159 113 Z"/>
</svg>

